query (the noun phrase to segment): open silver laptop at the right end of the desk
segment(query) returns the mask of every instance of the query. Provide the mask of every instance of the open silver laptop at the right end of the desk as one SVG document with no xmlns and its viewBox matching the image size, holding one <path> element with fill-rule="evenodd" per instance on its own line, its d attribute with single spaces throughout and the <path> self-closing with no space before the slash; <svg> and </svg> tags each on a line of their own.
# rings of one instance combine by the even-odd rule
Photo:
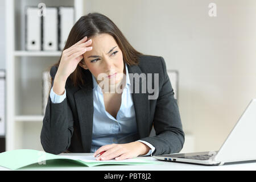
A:
<svg viewBox="0 0 256 182">
<path fill-rule="evenodd" d="M 221 127 L 221 126 L 220 126 Z M 217 131 L 216 131 L 217 133 Z M 238 122 L 218 151 L 153 156 L 169 162 L 209 166 L 256 160 L 256 99 L 250 101 Z"/>
</svg>

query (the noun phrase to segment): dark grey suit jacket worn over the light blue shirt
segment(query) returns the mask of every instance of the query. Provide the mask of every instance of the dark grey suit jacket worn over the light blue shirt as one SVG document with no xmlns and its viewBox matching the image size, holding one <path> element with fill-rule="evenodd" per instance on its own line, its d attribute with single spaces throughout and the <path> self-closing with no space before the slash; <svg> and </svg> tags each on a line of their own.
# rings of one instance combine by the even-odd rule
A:
<svg viewBox="0 0 256 182">
<path fill-rule="evenodd" d="M 184 144 L 184 132 L 163 57 L 142 55 L 139 57 L 138 65 L 127 65 L 127 68 L 129 73 L 159 73 L 157 99 L 148 100 L 148 92 L 138 93 L 134 90 L 132 93 L 138 139 L 155 147 L 152 155 L 179 152 Z M 53 79 L 56 72 L 57 67 L 52 67 L 50 74 Z M 92 73 L 88 70 L 83 72 L 86 84 L 75 87 L 68 78 L 65 85 L 67 97 L 63 102 L 53 104 L 51 98 L 48 98 L 41 131 L 41 143 L 46 152 L 90 152 L 93 130 L 93 82 Z M 144 80 L 139 79 L 139 84 L 142 85 L 144 81 L 147 81 L 147 77 Z M 154 78 L 152 81 L 154 85 Z M 156 135 L 150 137 L 153 124 Z"/>
</svg>

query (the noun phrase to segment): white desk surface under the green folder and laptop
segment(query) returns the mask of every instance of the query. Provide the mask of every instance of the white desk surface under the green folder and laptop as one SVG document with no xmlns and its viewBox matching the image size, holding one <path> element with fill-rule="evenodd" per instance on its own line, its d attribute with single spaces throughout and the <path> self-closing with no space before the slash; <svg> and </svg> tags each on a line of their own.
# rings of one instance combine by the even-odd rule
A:
<svg viewBox="0 0 256 182">
<path fill-rule="evenodd" d="M 60 155 L 72 155 L 72 154 L 60 154 Z M 77 155 L 93 155 L 90 153 L 76 153 Z M 138 157 L 139 159 L 156 160 L 152 157 Z M 243 171 L 243 170 L 256 170 L 256 162 L 243 163 L 243 164 L 228 164 L 224 166 L 201 166 L 196 164 L 174 163 L 164 162 L 157 160 L 163 164 L 144 164 L 144 165 L 108 165 L 108 166 L 96 166 L 85 167 L 78 166 L 77 164 L 67 163 L 65 161 L 51 162 L 46 161 L 46 165 L 32 164 L 31 166 L 21 168 L 19 170 L 68 170 L 68 171 Z M 47 166 L 51 164 L 51 166 Z M 69 166 L 67 166 L 67 164 Z M 0 170 L 9 170 L 7 168 L 0 167 Z"/>
</svg>

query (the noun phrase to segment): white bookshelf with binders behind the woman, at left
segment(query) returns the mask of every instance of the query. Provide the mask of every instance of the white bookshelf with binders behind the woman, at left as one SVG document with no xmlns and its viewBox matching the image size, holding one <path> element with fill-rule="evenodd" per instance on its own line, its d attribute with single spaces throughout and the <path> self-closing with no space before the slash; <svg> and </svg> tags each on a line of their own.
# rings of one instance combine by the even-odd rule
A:
<svg viewBox="0 0 256 182">
<path fill-rule="evenodd" d="M 26 51 L 25 7 L 73 6 L 75 21 L 84 13 L 82 0 L 6 0 L 6 150 L 43 150 L 42 74 L 61 51 Z"/>
</svg>

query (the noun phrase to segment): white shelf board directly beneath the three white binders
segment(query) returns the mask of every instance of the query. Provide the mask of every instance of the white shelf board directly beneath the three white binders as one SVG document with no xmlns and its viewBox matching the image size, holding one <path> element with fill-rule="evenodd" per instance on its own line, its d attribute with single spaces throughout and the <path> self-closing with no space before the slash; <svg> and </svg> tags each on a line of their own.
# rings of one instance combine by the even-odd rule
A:
<svg viewBox="0 0 256 182">
<path fill-rule="evenodd" d="M 61 51 L 15 51 L 14 56 L 61 56 Z"/>
</svg>

